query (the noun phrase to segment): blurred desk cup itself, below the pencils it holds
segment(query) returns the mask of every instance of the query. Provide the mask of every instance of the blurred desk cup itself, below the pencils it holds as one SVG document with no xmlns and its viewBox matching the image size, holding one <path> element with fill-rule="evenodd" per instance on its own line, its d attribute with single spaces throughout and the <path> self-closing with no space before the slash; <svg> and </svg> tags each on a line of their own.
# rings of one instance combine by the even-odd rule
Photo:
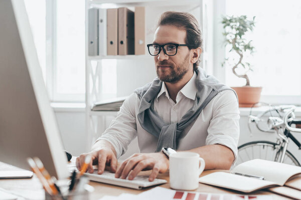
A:
<svg viewBox="0 0 301 200">
<path fill-rule="evenodd" d="M 45 191 L 45 200 L 82 200 L 90 199 L 90 193 L 94 190 L 91 185 L 84 185 L 81 191 L 71 191 L 68 193 L 51 195 Z"/>
</svg>

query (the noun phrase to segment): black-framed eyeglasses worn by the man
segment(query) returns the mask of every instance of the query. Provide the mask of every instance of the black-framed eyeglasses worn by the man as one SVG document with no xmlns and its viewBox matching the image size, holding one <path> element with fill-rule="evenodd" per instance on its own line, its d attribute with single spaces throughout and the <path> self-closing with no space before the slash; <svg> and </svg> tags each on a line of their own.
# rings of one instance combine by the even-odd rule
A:
<svg viewBox="0 0 301 200">
<path fill-rule="evenodd" d="M 181 44 L 165 44 L 165 45 L 158 45 L 158 44 L 148 44 L 146 45 L 148 52 L 152 56 L 157 56 L 161 52 L 161 48 L 163 49 L 164 53 L 168 56 L 175 56 L 178 52 L 178 47 L 185 46 L 189 47 L 191 45 L 181 45 Z"/>
</svg>

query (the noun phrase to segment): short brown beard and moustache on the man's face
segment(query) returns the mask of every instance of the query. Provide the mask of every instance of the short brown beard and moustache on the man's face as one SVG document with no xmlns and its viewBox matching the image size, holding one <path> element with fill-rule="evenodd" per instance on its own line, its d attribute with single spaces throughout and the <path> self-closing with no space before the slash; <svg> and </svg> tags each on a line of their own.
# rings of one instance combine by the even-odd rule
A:
<svg viewBox="0 0 301 200">
<path fill-rule="evenodd" d="M 182 80 L 184 75 L 189 70 L 189 53 L 186 55 L 184 61 L 180 64 L 174 64 L 168 63 L 167 60 L 164 61 L 158 61 L 157 62 L 157 76 L 160 81 L 164 81 L 167 83 L 177 83 L 178 81 Z M 159 68 L 158 66 L 169 66 L 167 69 Z M 168 72 L 170 71 L 170 73 Z"/>
</svg>

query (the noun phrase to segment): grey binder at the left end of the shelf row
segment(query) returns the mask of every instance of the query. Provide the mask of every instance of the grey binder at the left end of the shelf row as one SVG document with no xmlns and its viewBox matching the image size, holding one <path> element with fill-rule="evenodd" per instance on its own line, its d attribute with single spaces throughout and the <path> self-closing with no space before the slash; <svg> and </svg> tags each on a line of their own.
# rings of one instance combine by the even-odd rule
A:
<svg viewBox="0 0 301 200">
<path fill-rule="evenodd" d="M 98 55 L 98 9 L 88 10 L 88 55 Z"/>
</svg>

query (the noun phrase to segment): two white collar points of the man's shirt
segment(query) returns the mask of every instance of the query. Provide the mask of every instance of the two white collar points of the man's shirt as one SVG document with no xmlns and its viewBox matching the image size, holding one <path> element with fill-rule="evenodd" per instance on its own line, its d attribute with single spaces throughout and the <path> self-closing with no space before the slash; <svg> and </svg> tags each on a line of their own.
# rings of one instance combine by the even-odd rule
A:
<svg viewBox="0 0 301 200">
<path fill-rule="evenodd" d="M 196 83 L 196 79 L 197 79 L 197 74 L 194 72 L 193 73 L 193 76 L 191 77 L 191 79 L 186 83 L 186 85 L 180 90 L 180 92 L 186 96 L 187 98 L 189 99 L 192 99 L 192 100 L 195 100 L 196 98 L 196 94 L 197 94 L 197 83 Z M 157 95 L 157 101 L 158 101 L 158 98 L 164 94 L 166 95 L 166 97 L 168 99 L 170 99 L 170 96 L 168 94 L 168 90 L 166 88 L 166 85 L 165 85 L 165 82 L 162 83 L 162 87 L 161 87 L 161 90 L 160 92 L 158 93 Z"/>
</svg>

